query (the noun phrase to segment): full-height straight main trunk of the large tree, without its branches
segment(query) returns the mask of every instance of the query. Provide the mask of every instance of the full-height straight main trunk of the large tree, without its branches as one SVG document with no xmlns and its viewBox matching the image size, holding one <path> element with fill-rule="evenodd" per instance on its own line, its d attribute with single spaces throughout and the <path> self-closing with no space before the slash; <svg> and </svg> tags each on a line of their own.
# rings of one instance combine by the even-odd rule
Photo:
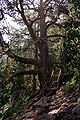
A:
<svg viewBox="0 0 80 120">
<path fill-rule="evenodd" d="M 43 68 L 42 73 L 39 75 L 40 80 L 40 88 L 43 89 L 45 84 L 50 80 L 50 62 L 49 62 L 49 54 L 48 54 L 48 44 L 46 38 L 46 23 L 45 23 L 45 7 L 43 0 L 40 0 L 40 59 L 41 59 L 41 67 Z"/>
</svg>

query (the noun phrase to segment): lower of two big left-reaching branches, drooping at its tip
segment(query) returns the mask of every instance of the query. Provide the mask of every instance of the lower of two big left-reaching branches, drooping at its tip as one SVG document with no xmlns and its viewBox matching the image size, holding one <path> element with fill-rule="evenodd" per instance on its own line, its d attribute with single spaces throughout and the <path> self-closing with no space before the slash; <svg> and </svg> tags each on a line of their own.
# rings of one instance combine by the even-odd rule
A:
<svg viewBox="0 0 80 120">
<path fill-rule="evenodd" d="M 19 71 L 19 72 L 16 72 L 14 73 L 7 81 L 7 83 L 9 83 L 10 81 L 13 80 L 14 77 L 17 77 L 17 76 L 22 76 L 22 75 L 35 75 L 35 74 L 39 74 L 42 72 L 42 69 L 34 69 L 34 70 L 29 70 L 29 71 Z"/>
</svg>

